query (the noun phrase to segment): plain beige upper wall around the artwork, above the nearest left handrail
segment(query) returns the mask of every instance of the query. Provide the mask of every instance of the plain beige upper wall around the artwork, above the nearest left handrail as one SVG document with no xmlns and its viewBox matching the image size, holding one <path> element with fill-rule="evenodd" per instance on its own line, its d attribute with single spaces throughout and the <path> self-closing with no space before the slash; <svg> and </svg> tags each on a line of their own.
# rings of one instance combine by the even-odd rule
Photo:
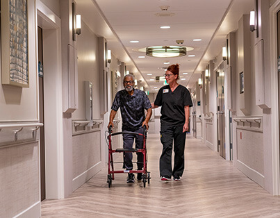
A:
<svg viewBox="0 0 280 218">
<path fill-rule="evenodd" d="M 37 60 L 35 49 L 34 0 L 28 1 L 28 68 L 29 87 L 1 85 L 0 122 L 38 120 Z M 3 54 L 2 54 L 3 55 Z M 0 76 L 1 83 L 1 76 Z"/>
</svg>

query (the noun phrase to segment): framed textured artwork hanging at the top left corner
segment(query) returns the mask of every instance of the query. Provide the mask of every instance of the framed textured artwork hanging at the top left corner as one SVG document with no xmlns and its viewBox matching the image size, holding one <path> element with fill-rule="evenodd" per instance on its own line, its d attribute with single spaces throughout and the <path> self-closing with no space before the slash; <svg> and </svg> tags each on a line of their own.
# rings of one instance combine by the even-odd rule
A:
<svg viewBox="0 0 280 218">
<path fill-rule="evenodd" d="M 1 1 L 2 84 L 29 87 L 27 0 Z"/>
</svg>

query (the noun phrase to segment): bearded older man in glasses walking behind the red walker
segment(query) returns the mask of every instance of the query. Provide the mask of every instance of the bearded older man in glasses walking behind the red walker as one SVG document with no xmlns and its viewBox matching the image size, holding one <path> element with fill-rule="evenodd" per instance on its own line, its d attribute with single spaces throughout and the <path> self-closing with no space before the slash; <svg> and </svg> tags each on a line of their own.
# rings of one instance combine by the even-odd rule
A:
<svg viewBox="0 0 280 218">
<path fill-rule="evenodd" d="M 148 122 L 151 118 L 151 103 L 147 97 L 147 94 L 134 88 L 134 76 L 127 74 L 124 76 L 124 90 L 120 90 L 115 95 L 113 105 L 110 112 L 110 121 L 108 128 L 112 126 L 114 128 L 113 119 L 120 108 L 122 115 L 122 132 L 143 132 L 143 126 L 148 129 Z M 145 117 L 145 110 L 147 110 L 147 116 Z M 143 137 L 141 135 L 123 134 L 124 149 L 132 149 L 135 139 L 135 147 L 142 149 Z M 124 166 L 126 170 L 133 169 L 132 162 L 133 154 L 131 152 L 124 153 Z M 137 167 L 141 170 L 144 166 L 143 153 L 137 153 Z M 137 179 L 142 179 L 142 173 L 138 173 Z M 129 173 L 127 183 L 134 183 L 134 174 Z"/>
</svg>

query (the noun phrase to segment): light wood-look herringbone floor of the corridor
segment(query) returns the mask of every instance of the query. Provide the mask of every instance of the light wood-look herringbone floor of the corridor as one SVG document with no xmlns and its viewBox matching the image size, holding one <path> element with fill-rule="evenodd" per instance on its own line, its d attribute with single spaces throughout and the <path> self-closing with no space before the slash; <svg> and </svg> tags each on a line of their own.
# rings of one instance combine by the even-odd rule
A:
<svg viewBox="0 0 280 218">
<path fill-rule="evenodd" d="M 280 217 L 280 197 L 272 196 L 200 140 L 186 142 L 186 167 L 179 182 L 162 182 L 161 144 L 148 135 L 151 183 L 126 184 L 126 174 L 106 183 L 104 167 L 67 199 L 42 202 L 42 217 Z"/>
</svg>

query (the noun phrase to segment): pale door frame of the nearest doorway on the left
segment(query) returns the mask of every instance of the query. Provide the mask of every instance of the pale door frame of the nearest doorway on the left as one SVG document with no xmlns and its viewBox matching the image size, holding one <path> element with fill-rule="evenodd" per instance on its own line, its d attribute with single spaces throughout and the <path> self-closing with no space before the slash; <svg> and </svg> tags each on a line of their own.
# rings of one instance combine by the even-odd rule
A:
<svg viewBox="0 0 280 218">
<path fill-rule="evenodd" d="M 64 169 L 61 21 L 41 1 L 36 1 L 36 6 L 36 26 L 40 26 L 43 30 L 44 47 L 46 199 L 62 199 L 64 196 Z"/>
</svg>

